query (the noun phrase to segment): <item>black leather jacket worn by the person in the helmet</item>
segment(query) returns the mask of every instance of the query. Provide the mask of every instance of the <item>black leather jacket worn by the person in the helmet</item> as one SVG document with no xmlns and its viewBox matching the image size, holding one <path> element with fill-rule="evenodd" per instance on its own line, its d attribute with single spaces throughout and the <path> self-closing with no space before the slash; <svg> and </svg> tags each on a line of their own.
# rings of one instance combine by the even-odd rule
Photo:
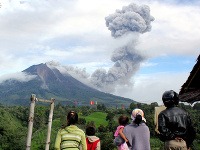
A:
<svg viewBox="0 0 200 150">
<path fill-rule="evenodd" d="M 158 115 L 158 130 L 162 141 L 180 137 L 187 145 L 193 142 L 196 135 L 190 116 L 179 107 L 166 108 Z"/>
</svg>

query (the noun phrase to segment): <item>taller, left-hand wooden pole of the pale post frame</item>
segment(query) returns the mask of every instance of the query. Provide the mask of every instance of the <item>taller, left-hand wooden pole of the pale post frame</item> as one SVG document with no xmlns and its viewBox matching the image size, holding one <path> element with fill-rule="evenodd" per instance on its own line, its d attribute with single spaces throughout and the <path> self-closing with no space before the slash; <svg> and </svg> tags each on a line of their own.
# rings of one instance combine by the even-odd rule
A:
<svg viewBox="0 0 200 150">
<path fill-rule="evenodd" d="M 31 95 L 29 119 L 28 119 L 29 123 L 28 123 L 28 134 L 27 134 L 27 141 L 26 141 L 26 150 L 30 150 L 30 148 L 31 148 L 31 137 L 32 137 L 32 131 L 33 131 L 35 100 L 36 100 L 36 95 L 32 94 Z"/>
</svg>

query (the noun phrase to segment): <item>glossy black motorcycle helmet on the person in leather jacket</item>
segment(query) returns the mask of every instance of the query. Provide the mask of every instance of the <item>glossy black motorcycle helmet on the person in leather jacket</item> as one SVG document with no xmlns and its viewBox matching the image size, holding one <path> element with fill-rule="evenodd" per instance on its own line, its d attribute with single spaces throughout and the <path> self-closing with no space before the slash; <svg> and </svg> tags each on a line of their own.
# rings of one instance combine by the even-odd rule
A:
<svg viewBox="0 0 200 150">
<path fill-rule="evenodd" d="M 165 91 L 162 95 L 162 100 L 166 107 L 178 105 L 179 103 L 178 94 L 173 90 Z"/>
</svg>

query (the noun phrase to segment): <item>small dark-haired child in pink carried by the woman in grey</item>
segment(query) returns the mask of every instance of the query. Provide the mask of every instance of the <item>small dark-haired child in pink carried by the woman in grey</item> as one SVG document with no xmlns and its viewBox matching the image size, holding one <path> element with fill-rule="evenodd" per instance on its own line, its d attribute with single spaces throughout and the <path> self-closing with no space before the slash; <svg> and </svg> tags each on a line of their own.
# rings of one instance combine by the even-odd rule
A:
<svg viewBox="0 0 200 150">
<path fill-rule="evenodd" d="M 128 150 L 128 139 L 125 137 L 124 133 L 123 133 L 123 130 L 124 130 L 124 127 L 128 124 L 129 122 L 129 118 L 127 116 L 120 116 L 118 118 L 118 123 L 119 123 L 119 126 L 117 127 L 115 133 L 114 133 L 114 137 L 115 137 L 115 140 L 114 140 L 114 143 L 115 145 L 117 145 L 117 149 L 118 150 Z M 119 140 L 117 139 L 119 136 Z M 119 143 L 118 143 L 119 142 Z"/>
</svg>

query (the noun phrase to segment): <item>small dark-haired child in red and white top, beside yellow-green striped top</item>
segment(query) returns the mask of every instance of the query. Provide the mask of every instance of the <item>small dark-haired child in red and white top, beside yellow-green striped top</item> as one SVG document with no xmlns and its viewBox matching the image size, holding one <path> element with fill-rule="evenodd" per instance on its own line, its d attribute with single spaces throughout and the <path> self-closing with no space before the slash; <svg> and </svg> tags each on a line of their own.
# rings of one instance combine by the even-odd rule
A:
<svg viewBox="0 0 200 150">
<path fill-rule="evenodd" d="M 95 136 L 96 130 L 93 126 L 86 128 L 86 143 L 87 150 L 101 150 L 100 139 Z"/>
</svg>

